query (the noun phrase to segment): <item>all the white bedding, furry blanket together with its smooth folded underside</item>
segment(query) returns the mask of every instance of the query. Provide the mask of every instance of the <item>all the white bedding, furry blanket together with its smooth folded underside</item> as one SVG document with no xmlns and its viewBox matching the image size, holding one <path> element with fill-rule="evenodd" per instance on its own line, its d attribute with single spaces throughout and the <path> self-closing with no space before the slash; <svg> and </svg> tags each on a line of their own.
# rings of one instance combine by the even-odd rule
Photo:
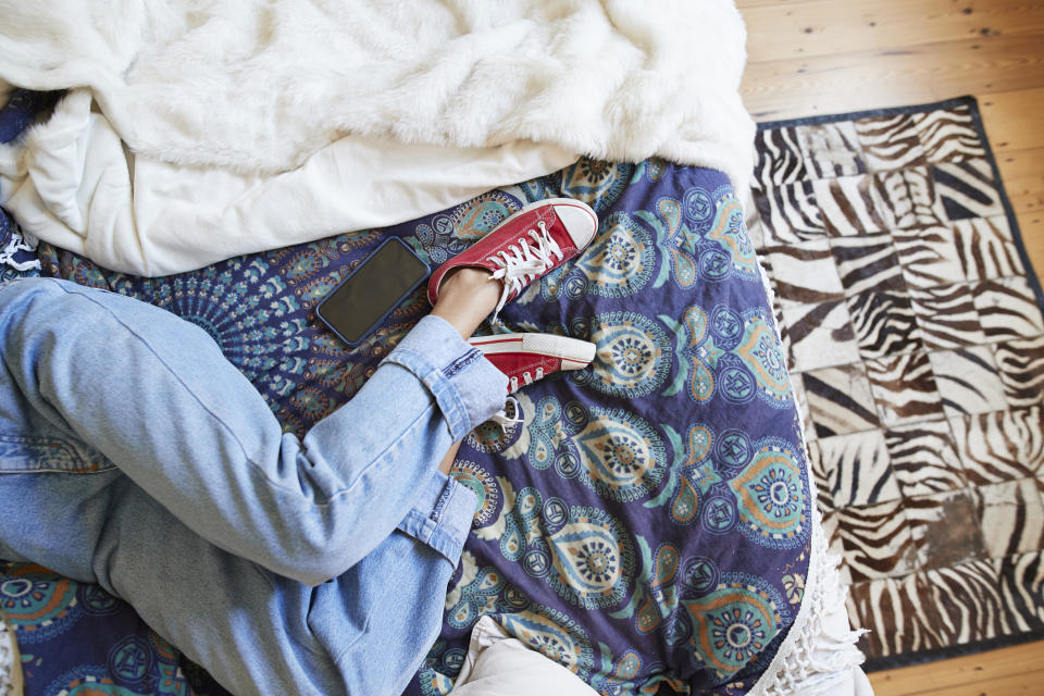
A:
<svg viewBox="0 0 1044 696">
<path fill-rule="evenodd" d="M 0 151 L 0 203 L 144 275 L 410 220 L 579 154 L 661 156 L 739 190 L 753 166 L 731 0 L 0 0 L 0 78 L 82 88 L 98 112 L 67 103 L 33 149 Z M 362 145 L 331 149 L 345 136 Z M 309 200 L 315 179 L 284 175 L 316 158 L 362 214 L 295 227 L 271 209 Z"/>
</svg>

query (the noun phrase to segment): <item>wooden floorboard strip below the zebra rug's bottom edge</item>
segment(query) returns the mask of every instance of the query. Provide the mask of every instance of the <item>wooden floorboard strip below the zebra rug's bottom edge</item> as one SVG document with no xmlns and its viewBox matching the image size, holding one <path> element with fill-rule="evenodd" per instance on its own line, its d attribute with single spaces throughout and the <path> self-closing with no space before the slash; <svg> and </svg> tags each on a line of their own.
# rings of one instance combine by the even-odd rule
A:
<svg viewBox="0 0 1044 696">
<path fill-rule="evenodd" d="M 945 662 L 929 662 L 883 672 L 871 672 L 870 683 L 875 696 L 912 696 L 913 694 L 950 694 L 953 688 L 967 685 L 996 684 L 1005 678 L 1033 673 L 1033 683 L 1044 685 L 1037 674 L 1044 662 L 1044 642 L 1027 643 L 999 650 L 958 657 Z M 939 669 L 945 664 L 945 669 Z M 965 693 L 965 692 L 953 692 Z M 983 693 L 983 692 L 974 692 Z M 1008 693 L 1008 692 L 990 692 Z M 1020 692 L 1012 692 L 1020 693 Z M 1035 692 L 1040 693 L 1040 691 Z"/>
</svg>

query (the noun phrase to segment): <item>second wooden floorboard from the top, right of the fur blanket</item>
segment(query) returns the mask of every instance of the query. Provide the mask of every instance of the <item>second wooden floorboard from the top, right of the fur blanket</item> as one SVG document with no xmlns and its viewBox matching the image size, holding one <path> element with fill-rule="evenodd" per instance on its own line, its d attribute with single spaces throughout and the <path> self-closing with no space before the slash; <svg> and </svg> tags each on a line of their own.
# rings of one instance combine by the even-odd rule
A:
<svg viewBox="0 0 1044 696">
<path fill-rule="evenodd" d="M 1044 87 L 1044 35 L 1000 36 L 747 65 L 756 120 L 899 107 Z"/>
</svg>

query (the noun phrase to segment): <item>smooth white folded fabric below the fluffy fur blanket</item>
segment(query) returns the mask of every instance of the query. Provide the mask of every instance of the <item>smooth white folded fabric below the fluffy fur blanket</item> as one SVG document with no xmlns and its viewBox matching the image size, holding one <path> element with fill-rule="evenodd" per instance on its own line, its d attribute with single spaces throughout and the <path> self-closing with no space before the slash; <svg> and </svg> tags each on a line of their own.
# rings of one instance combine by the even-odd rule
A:
<svg viewBox="0 0 1044 696">
<path fill-rule="evenodd" d="M 289 172 L 239 174 L 128 154 L 90 107 L 90 92 L 75 90 L 17 148 L 0 146 L 0 203 L 26 233 L 145 276 L 413 220 L 576 159 L 530 141 L 346 136 Z"/>
</svg>

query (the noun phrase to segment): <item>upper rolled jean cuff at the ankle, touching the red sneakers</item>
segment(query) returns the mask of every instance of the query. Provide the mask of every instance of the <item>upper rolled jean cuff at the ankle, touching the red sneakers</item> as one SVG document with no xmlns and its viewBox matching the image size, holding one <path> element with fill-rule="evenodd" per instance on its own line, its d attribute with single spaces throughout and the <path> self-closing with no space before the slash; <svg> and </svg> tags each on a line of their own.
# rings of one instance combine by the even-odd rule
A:
<svg viewBox="0 0 1044 696">
<path fill-rule="evenodd" d="M 504 408 L 508 377 L 447 321 L 428 314 L 384 359 L 412 372 L 443 411 L 453 442 Z"/>
</svg>

